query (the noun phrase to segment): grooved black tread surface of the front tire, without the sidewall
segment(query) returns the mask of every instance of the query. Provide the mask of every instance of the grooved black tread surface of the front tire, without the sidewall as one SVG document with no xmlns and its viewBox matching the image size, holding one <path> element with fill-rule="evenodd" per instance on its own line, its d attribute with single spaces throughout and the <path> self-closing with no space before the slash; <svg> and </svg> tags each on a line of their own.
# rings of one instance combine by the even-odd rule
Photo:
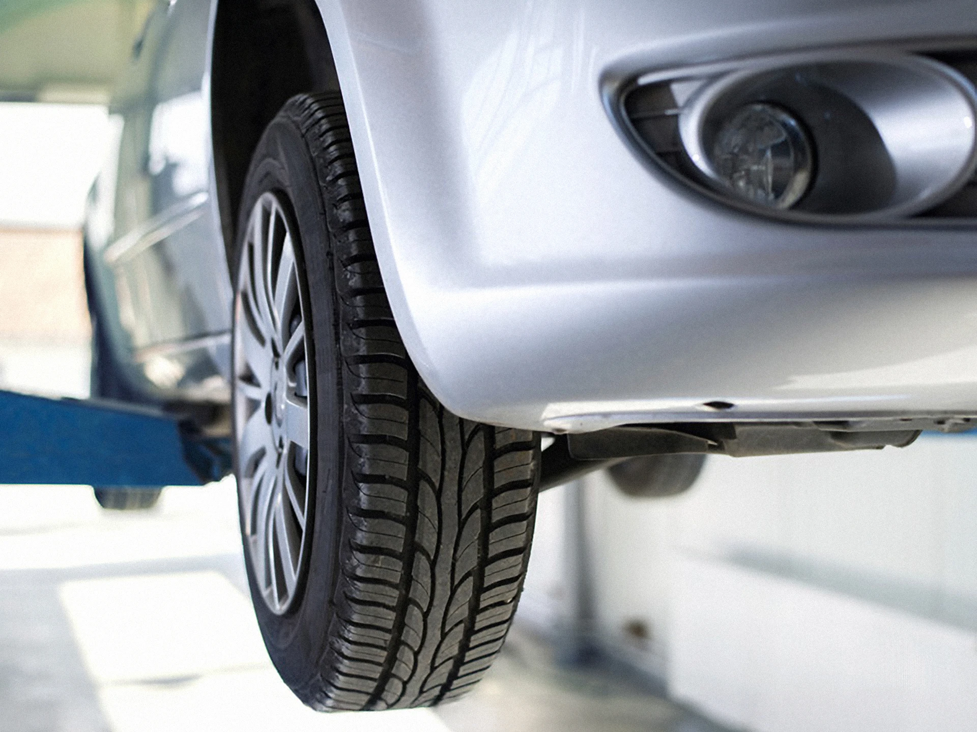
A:
<svg viewBox="0 0 977 732">
<path fill-rule="evenodd" d="M 322 710 L 455 699 L 485 673 L 530 556 L 538 435 L 468 422 L 418 377 L 387 302 L 339 96 L 284 114 L 316 161 L 339 312 L 348 471 Z"/>
</svg>

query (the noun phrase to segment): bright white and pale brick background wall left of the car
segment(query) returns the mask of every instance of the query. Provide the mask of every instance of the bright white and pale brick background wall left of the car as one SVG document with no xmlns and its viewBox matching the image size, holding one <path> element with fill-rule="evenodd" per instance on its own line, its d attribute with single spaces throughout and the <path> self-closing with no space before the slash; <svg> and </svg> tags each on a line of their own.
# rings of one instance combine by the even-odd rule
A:
<svg viewBox="0 0 977 732">
<path fill-rule="evenodd" d="M 98 104 L 0 102 L 0 388 L 88 395 L 79 228 L 107 131 Z"/>
</svg>

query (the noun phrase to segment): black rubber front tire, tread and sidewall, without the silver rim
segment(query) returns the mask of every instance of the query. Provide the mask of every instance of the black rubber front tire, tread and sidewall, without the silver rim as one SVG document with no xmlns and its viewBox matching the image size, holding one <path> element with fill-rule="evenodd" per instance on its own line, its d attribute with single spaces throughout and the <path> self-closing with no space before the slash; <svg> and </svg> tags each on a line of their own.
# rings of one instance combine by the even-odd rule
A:
<svg viewBox="0 0 977 732">
<path fill-rule="evenodd" d="M 315 364 L 311 550 L 283 615 L 266 604 L 245 550 L 269 654 L 320 711 L 455 699 L 488 670 L 516 610 L 538 434 L 459 419 L 418 377 L 384 292 L 338 94 L 296 97 L 266 130 L 244 186 L 234 270 L 248 214 L 268 191 L 290 205 L 301 239 Z"/>
</svg>

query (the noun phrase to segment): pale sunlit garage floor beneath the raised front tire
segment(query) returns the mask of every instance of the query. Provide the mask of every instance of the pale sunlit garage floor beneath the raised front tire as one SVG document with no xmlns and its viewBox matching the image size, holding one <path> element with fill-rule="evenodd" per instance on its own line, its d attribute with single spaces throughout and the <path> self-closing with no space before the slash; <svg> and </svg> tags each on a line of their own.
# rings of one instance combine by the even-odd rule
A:
<svg viewBox="0 0 977 732">
<path fill-rule="evenodd" d="M 261 644 L 234 487 L 146 515 L 83 487 L 0 487 L 0 732 L 715 732 L 607 666 L 562 669 L 516 630 L 476 694 L 438 712 L 311 712 Z"/>
</svg>

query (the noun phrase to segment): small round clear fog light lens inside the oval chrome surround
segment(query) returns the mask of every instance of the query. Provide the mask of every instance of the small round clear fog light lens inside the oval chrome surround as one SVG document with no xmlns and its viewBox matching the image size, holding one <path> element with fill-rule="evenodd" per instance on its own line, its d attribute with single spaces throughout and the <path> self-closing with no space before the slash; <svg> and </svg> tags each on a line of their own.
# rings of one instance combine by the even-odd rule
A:
<svg viewBox="0 0 977 732">
<path fill-rule="evenodd" d="M 800 123 L 773 104 L 747 104 L 716 135 L 719 179 L 748 201 L 787 209 L 811 183 L 811 145 Z"/>
</svg>

